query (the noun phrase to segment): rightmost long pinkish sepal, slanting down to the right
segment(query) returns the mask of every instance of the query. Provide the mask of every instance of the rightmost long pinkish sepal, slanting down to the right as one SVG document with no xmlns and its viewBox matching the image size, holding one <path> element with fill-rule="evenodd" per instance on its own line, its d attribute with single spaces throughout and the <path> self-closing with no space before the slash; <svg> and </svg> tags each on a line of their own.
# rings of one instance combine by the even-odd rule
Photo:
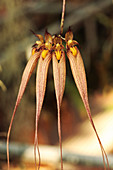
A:
<svg viewBox="0 0 113 170">
<path fill-rule="evenodd" d="M 84 64 L 83 64 L 83 60 L 81 57 L 81 54 L 79 52 L 79 50 L 77 50 L 77 55 L 73 56 L 73 54 L 71 53 L 70 50 L 67 51 L 67 56 L 70 62 L 70 66 L 71 66 L 71 70 L 72 70 L 72 74 L 74 77 L 74 81 L 77 85 L 77 88 L 79 90 L 80 96 L 82 98 L 82 101 L 84 103 L 84 106 L 86 108 L 89 120 L 92 124 L 92 127 L 95 131 L 95 134 L 97 136 L 97 139 L 99 141 L 100 147 L 101 147 L 101 151 L 102 151 L 102 157 L 103 157 L 103 162 L 104 162 L 104 168 L 106 169 L 106 165 L 105 165 L 105 160 L 104 160 L 104 155 L 107 161 L 107 166 L 109 169 L 109 162 L 108 162 L 108 158 L 106 155 L 106 152 L 104 150 L 104 147 L 101 143 L 101 140 L 99 138 L 99 135 L 97 133 L 97 130 L 95 128 L 94 122 L 92 120 L 92 116 L 91 116 L 91 111 L 90 111 L 90 107 L 89 107 L 89 101 L 88 101 L 88 95 L 87 95 L 87 83 L 86 83 L 86 74 L 85 74 L 85 69 L 84 69 Z"/>
</svg>

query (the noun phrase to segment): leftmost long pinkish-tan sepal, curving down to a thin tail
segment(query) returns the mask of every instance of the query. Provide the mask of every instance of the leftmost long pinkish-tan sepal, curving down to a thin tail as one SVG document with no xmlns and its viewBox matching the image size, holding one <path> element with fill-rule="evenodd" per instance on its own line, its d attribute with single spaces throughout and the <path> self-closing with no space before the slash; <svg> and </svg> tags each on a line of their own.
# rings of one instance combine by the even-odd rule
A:
<svg viewBox="0 0 113 170">
<path fill-rule="evenodd" d="M 13 114 L 12 114 L 12 118 L 11 118 L 11 121 L 10 121 L 8 133 L 7 133 L 7 161 L 8 161 L 8 170 L 9 170 L 9 136 L 10 136 L 10 131 L 11 131 L 13 119 L 14 119 L 17 107 L 18 107 L 18 105 L 19 105 L 19 103 L 21 101 L 21 98 L 23 96 L 23 93 L 25 91 L 26 85 L 27 85 L 27 83 L 28 83 L 28 81 L 30 79 L 30 76 L 31 76 L 33 70 L 36 67 L 37 60 L 38 60 L 39 56 L 40 56 L 40 52 L 37 52 L 36 54 L 34 54 L 34 55 L 32 55 L 30 57 L 27 65 L 25 67 L 25 70 L 23 72 L 23 75 L 22 75 L 22 80 L 21 80 L 21 84 L 20 84 L 20 88 L 19 88 L 16 104 L 15 104 L 15 107 L 14 107 L 14 111 L 13 111 Z"/>
</svg>

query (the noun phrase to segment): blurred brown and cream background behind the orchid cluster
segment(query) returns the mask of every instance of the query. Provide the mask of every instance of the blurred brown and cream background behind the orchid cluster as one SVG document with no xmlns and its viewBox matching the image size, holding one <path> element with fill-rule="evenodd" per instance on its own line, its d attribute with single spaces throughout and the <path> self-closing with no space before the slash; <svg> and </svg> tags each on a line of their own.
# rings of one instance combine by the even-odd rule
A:
<svg viewBox="0 0 113 170">
<path fill-rule="evenodd" d="M 6 146 L 4 145 L 6 133 L 22 72 L 31 54 L 31 47 L 37 40 L 30 30 L 44 35 L 47 28 L 52 35 L 59 34 L 61 10 L 62 0 L 0 0 L 0 169 L 7 169 Z M 80 44 L 79 48 L 87 75 L 89 103 L 95 125 L 107 154 L 112 155 L 112 0 L 67 0 L 63 36 L 65 36 L 69 26 L 74 33 L 74 39 Z M 66 87 L 61 106 L 65 169 L 102 169 L 101 150 L 74 84 L 67 58 L 66 64 Z M 23 144 L 32 146 L 34 143 L 35 74 L 34 71 L 16 112 L 11 130 L 10 143 L 13 143 L 12 148 L 15 148 L 15 150 L 10 151 L 13 155 L 11 157 L 12 169 L 34 168 L 34 160 L 28 161 L 29 159 L 26 158 L 28 155 L 23 158 L 21 156 L 26 147 L 22 147 L 21 155 L 18 154 L 17 148 L 23 146 Z M 39 143 L 42 147 L 42 155 L 43 147 L 46 147 L 47 153 L 49 153 L 51 147 L 55 147 L 50 154 L 50 160 L 47 161 L 47 158 L 42 158 L 42 169 L 60 169 L 59 149 L 57 149 L 58 160 L 56 156 L 54 156 L 56 162 L 51 160 L 52 154 L 56 153 L 57 147 L 59 148 L 57 107 L 51 64 L 39 121 Z M 14 156 L 15 152 L 16 156 Z M 67 153 L 70 153 L 70 156 Z M 45 157 L 49 157 L 46 154 L 44 153 Z M 75 155 L 75 157 L 72 158 L 72 155 Z M 83 155 L 84 157 L 82 157 Z M 90 162 L 91 156 L 94 156 L 94 159 Z M 100 160 L 97 161 L 98 163 L 95 163 L 96 156 L 100 158 L 97 159 Z M 46 161 L 43 161 L 44 159 Z M 82 159 L 82 161 L 77 162 L 76 159 Z"/>
</svg>

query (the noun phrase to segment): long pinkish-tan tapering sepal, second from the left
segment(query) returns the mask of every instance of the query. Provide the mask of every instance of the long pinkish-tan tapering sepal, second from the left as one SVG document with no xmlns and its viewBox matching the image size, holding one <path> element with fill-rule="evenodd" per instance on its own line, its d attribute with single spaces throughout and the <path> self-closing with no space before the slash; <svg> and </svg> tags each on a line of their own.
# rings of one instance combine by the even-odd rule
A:
<svg viewBox="0 0 113 170">
<path fill-rule="evenodd" d="M 44 100 L 45 95 L 45 89 L 46 89 L 46 80 L 47 80 L 47 72 L 49 63 L 51 61 L 51 54 L 48 52 L 45 59 L 42 58 L 42 56 L 39 59 L 38 68 L 37 68 L 37 76 L 36 76 L 36 129 L 35 129 L 35 141 L 34 141 L 34 156 L 35 156 L 35 167 L 37 169 L 36 165 L 36 147 L 38 150 L 39 155 L 39 166 L 40 168 L 40 152 L 38 147 L 38 121 L 40 117 L 40 112 Z"/>
</svg>

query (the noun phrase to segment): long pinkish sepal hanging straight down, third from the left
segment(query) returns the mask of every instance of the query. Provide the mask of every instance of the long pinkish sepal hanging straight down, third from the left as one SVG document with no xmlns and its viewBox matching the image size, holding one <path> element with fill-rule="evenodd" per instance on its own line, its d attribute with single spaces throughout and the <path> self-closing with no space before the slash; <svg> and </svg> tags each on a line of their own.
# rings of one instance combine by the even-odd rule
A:
<svg viewBox="0 0 113 170">
<path fill-rule="evenodd" d="M 62 51 L 62 56 L 59 62 L 54 53 L 52 55 L 52 59 L 53 59 L 53 76 L 54 76 L 57 109 L 58 109 L 58 134 L 59 134 L 59 143 L 60 143 L 60 150 L 61 150 L 61 170 L 63 170 L 60 106 L 64 94 L 65 79 L 66 79 L 66 63 L 65 63 L 64 51 Z"/>
</svg>

